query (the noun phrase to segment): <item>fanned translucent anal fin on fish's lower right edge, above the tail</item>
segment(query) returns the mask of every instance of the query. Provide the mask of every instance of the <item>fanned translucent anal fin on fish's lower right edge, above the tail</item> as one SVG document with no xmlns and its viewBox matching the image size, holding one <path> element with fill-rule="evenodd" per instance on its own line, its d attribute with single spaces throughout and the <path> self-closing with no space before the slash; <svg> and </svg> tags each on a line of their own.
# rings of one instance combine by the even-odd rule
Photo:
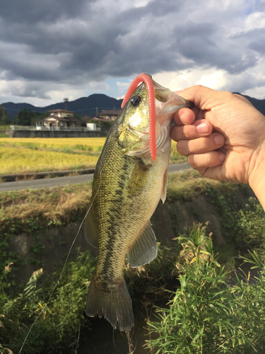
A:
<svg viewBox="0 0 265 354">
<path fill-rule="evenodd" d="M 157 250 L 158 245 L 156 244 L 155 233 L 149 221 L 146 228 L 137 237 L 134 244 L 131 245 L 127 253 L 127 260 L 131 267 L 139 267 L 139 265 L 151 262 L 155 258 Z"/>
</svg>

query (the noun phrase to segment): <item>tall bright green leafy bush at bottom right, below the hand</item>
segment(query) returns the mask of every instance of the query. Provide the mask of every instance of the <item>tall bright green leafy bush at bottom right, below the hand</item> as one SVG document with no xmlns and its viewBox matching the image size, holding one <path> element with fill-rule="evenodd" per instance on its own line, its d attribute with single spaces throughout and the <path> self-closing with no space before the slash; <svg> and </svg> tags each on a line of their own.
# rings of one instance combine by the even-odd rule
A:
<svg viewBox="0 0 265 354">
<path fill-rule="evenodd" d="M 151 322 L 148 341 L 155 353 L 264 353 L 265 265 L 257 253 L 243 258 L 261 268 L 254 284 L 235 275 L 234 284 L 213 254 L 211 238 L 194 227 L 183 239 L 177 264 L 180 289 L 169 309 L 157 309 L 158 322 Z"/>
</svg>

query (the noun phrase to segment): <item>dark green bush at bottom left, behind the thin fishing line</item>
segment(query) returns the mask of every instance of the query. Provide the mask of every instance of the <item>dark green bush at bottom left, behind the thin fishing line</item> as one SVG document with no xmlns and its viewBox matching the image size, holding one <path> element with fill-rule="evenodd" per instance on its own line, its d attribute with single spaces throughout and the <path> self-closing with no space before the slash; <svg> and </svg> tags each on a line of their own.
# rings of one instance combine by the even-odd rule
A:
<svg viewBox="0 0 265 354">
<path fill-rule="evenodd" d="M 89 252 L 66 265 L 52 296 L 56 281 L 42 282 L 42 270 L 34 272 L 22 293 L 11 298 L 2 287 L 0 295 L 0 353 L 51 353 L 69 348 L 86 319 L 88 285 L 95 268 Z M 1 347 L 2 346 L 2 347 Z M 6 349 L 5 349 L 6 348 Z M 7 350 L 8 348 L 8 350 Z"/>
</svg>

